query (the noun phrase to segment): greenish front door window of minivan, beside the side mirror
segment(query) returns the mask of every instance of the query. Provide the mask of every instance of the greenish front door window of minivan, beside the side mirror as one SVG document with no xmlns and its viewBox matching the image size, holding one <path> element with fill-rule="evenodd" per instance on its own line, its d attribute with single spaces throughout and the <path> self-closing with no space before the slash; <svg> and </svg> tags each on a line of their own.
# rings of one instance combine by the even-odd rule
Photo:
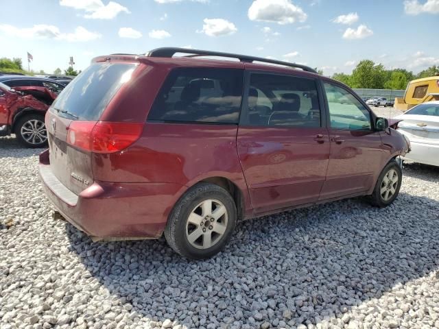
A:
<svg viewBox="0 0 439 329">
<path fill-rule="evenodd" d="M 348 90 L 324 82 L 329 106 L 331 128 L 346 130 L 371 130 L 370 112 Z"/>
</svg>

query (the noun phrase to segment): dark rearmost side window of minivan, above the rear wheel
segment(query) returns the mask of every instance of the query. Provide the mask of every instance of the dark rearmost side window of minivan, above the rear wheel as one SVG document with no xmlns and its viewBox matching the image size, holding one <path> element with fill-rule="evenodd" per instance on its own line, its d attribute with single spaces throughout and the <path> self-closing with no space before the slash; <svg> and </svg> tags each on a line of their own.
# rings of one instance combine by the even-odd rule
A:
<svg viewBox="0 0 439 329">
<path fill-rule="evenodd" d="M 244 70 L 178 68 L 169 73 L 148 121 L 237 124 Z"/>
</svg>

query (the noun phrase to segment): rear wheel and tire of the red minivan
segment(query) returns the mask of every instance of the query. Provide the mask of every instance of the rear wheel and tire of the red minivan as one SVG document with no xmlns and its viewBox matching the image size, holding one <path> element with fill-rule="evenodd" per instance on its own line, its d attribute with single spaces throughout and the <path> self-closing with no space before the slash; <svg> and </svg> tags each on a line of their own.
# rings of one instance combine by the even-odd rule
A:
<svg viewBox="0 0 439 329">
<path fill-rule="evenodd" d="M 209 258 L 230 240 L 237 221 L 233 198 L 224 188 L 199 183 L 174 206 L 165 238 L 175 252 L 190 259 Z"/>
</svg>

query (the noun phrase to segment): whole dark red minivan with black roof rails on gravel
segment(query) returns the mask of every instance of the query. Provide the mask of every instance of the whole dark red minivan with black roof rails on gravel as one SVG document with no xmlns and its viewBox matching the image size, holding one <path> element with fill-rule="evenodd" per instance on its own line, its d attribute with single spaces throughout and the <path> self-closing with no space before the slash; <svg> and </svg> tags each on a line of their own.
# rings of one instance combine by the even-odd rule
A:
<svg viewBox="0 0 439 329">
<path fill-rule="evenodd" d="M 219 252 L 242 219 L 359 195 L 388 206 L 409 150 L 307 66 L 194 49 L 97 57 L 45 122 L 40 177 L 62 217 L 93 241 L 164 232 L 188 258 Z"/>
</svg>

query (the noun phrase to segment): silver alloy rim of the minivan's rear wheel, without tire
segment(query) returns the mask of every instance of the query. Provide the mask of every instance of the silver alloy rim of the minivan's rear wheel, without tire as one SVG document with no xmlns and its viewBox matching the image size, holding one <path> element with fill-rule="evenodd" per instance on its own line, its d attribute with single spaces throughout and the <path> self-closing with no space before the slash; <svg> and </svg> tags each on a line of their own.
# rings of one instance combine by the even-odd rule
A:
<svg viewBox="0 0 439 329">
<path fill-rule="evenodd" d="M 226 232 L 227 209 L 222 202 L 206 199 L 189 214 L 186 238 L 197 249 L 208 249 L 218 243 Z"/>
</svg>

